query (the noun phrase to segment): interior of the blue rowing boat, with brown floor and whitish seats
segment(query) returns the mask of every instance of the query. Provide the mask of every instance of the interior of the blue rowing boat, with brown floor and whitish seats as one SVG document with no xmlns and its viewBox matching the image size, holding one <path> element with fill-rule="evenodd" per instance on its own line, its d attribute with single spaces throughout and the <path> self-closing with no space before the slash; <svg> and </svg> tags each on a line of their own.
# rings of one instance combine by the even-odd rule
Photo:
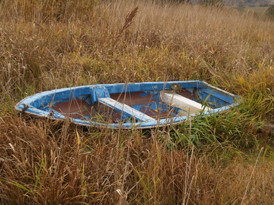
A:
<svg viewBox="0 0 274 205">
<path fill-rule="evenodd" d="M 186 88 L 104 93 L 101 97 L 92 92 L 54 101 L 48 109 L 79 120 L 121 123 L 173 118 L 231 104 L 207 92 Z"/>
</svg>

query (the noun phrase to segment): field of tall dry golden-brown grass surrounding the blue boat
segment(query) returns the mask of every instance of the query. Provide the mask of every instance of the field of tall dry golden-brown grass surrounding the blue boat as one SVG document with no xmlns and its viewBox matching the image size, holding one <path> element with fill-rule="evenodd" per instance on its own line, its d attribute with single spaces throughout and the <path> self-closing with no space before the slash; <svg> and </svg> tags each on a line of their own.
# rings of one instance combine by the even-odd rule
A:
<svg viewBox="0 0 274 205">
<path fill-rule="evenodd" d="M 274 203 L 273 21 L 152 0 L 0 5 L 0 204 Z M 149 131 L 85 130 L 13 108 L 61 87 L 169 79 L 245 101 Z"/>
</svg>

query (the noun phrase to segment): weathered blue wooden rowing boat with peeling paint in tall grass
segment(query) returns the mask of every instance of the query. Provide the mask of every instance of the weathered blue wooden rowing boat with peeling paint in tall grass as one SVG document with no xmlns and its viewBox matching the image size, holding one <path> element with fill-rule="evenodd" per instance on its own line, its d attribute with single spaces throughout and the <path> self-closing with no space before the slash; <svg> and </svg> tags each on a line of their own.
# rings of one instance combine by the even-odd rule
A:
<svg viewBox="0 0 274 205">
<path fill-rule="evenodd" d="M 220 113 L 240 100 L 203 81 L 114 83 L 41 92 L 21 100 L 15 109 L 81 126 L 154 128 Z"/>
</svg>

